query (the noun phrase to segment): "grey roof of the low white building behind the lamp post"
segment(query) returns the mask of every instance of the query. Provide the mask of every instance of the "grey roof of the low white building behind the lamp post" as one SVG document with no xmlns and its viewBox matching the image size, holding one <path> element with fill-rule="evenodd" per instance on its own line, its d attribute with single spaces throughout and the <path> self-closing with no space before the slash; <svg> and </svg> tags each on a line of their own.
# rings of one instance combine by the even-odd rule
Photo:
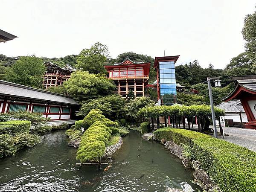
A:
<svg viewBox="0 0 256 192">
<path fill-rule="evenodd" d="M 238 100 L 223 102 L 217 105 L 217 107 L 223 109 L 226 113 L 244 112 L 244 108 Z"/>
</svg>

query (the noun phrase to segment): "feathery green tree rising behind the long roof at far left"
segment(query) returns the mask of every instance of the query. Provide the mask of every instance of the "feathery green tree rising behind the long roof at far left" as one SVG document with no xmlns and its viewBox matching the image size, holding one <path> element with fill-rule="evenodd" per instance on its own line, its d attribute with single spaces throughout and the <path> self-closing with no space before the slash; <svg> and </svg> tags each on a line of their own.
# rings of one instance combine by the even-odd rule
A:
<svg viewBox="0 0 256 192">
<path fill-rule="evenodd" d="M 19 60 L 5 70 L 3 79 L 17 84 L 30 87 L 42 88 L 43 74 L 46 67 L 41 58 L 32 56 L 21 56 Z"/>
</svg>

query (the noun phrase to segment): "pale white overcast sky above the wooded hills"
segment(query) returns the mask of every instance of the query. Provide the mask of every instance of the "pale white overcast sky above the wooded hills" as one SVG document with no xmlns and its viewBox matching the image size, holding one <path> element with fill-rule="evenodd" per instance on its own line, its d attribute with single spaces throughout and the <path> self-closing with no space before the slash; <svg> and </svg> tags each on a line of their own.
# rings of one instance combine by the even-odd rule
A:
<svg viewBox="0 0 256 192">
<path fill-rule="evenodd" d="M 63 57 L 101 42 L 123 52 L 180 55 L 223 69 L 244 52 L 244 17 L 255 0 L 0 0 L 0 29 L 18 36 L 0 43 L 7 56 Z"/>
</svg>

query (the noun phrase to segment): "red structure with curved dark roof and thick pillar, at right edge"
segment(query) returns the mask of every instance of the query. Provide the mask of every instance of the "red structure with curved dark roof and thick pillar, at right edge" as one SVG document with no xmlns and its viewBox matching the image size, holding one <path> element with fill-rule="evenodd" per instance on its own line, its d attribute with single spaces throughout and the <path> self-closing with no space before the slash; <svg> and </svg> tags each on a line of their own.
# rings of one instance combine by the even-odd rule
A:
<svg viewBox="0 0 256 192">
<path fill-rule="evenodd" d="M 234 76 L 231 79 L 236 87 L 224 101 L 240 100 L 248 119 L 244 127 L 256 129 L 256 76 Z"/>
</svg>

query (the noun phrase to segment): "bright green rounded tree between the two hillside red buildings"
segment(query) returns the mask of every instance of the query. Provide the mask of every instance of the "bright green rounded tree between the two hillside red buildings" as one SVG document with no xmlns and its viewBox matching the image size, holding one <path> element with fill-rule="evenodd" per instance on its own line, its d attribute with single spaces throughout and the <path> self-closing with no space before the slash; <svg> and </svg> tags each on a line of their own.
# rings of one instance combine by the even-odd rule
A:
<svg viewBox="0 0 256 192">
<path fill-rule="evenodd" d="M 106 96 L 116 90 L 116 85 L 111 79 L 97 77 L 87 71 L 73 72 L 70 79 L 64 82 L 64 87 L 67 94 L 77 102 Z"/>
</svg>

